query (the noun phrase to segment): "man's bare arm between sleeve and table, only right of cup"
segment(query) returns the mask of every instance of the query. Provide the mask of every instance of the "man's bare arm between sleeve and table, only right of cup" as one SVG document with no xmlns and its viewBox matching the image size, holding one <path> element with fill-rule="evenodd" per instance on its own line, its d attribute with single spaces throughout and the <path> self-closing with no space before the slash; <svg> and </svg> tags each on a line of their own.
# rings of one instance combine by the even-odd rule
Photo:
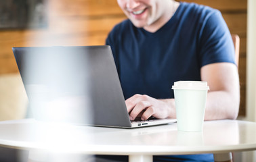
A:
<svg viewBox="0 0 256 162">
<path fill-rule="evenodd" d="M 233 63 L 212 63 L 201 68 L 201 80 L 207 81 L 205 120 L 236 119 L 240 103 L 238 69 Z"/>
</svg>

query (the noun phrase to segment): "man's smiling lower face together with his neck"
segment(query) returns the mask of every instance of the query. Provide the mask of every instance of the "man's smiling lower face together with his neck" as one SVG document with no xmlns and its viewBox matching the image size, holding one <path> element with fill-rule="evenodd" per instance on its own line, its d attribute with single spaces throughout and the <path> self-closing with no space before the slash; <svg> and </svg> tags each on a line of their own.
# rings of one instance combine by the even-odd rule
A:
<svg viewBox="0 0 256 162">
<path fill-rule="evenodd" d="M 144 28 L 149 32 L 156 32 L 167 23 L 179 3 L 175 1 L 123 1 L 118 0 L 119 6 L 137 28 Z"/>
</svg>

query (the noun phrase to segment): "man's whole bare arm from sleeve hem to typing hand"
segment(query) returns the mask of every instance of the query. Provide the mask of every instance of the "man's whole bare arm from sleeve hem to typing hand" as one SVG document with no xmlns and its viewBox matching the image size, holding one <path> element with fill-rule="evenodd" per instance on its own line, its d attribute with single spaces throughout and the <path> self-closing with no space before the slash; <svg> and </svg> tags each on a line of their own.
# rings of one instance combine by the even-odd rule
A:
<svg viewBox="0 0 256 162">
<path fill-rule="evenodd" d="M 211 63 L 201 68 L 201 79 L 207 81 L 210 90 L 207 96 L 205 120 L 236 119 L 240 103 L 238 70 L 233 63 Z M 176 117 L 174 99 L 154 99 L 135 94 L 125 101 L 130 118 L 141 116 L 148 119 Z"/>
</svg>

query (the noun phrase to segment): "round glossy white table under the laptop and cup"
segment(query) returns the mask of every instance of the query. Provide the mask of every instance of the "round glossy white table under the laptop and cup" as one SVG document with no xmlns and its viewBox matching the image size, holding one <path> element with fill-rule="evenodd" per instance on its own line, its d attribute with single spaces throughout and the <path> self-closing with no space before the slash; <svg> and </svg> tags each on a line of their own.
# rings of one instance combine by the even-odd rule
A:
<svg viewBox="0 0 256 162">
<path fill-rule="evenodd" d="M 129 161 L 152 161 L 152 155 L 227 155 L 256 149 L 256 123 L 205 121 L 202 132 L 179 132 L 176 124 L 121 129 L 22 119 L 0 122 L 0 145 L 53 153 L 129 155 Z"/>
</svg>

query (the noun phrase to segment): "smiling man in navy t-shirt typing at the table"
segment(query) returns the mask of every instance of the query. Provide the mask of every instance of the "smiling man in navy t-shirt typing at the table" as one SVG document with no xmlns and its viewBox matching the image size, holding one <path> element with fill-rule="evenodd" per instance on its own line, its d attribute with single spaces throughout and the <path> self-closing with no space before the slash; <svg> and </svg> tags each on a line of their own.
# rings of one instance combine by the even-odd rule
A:
<svg viewBox="0 0 256 162">
<path fill-rule="evenodd" d="M 171 86 L 207 81 L 205 120 L 236 119 L 240 103 L 234 45 L 216 9 L 173 0 L 117 0 L 128 20 L 108 35 L 130 119 L 175 117 Z M 212 161 L 212 155 L 154 161 Z"/>
</svg>

